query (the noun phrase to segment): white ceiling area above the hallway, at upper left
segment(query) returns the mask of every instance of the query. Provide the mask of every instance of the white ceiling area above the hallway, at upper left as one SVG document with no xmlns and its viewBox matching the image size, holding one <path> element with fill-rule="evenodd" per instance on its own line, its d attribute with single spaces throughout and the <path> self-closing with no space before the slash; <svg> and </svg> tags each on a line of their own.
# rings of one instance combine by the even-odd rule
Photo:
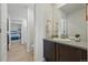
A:
<svg viewBox="0 0 88 65">
<path fill-rule="evenodd" d="M 10 18 L 27 18 L 28 8 L 33 9 L 33 3 L 8 3 Z"/>
</svg>

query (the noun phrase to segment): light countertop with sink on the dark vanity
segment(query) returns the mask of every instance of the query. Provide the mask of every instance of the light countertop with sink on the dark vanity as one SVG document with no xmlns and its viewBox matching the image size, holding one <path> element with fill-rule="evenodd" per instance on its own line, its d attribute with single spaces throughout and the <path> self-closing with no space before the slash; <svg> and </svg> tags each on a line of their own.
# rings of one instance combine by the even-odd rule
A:
<svg viewBox="0 0 88 65">
<path fill-rule="evenodd" d="M 86 41 L 76 42 L 76 41 L 69 40 L 69 39 L 57 39 L 57 40 L 56 39 L 45 39 L 45 40 L 57 42 L 57 43 L 60 43 L 60 44 L 70 45 L 70 46 L 80 47 L 80 48 L 84 48 L 84 50 L 88 48 Z"/>
</svg>

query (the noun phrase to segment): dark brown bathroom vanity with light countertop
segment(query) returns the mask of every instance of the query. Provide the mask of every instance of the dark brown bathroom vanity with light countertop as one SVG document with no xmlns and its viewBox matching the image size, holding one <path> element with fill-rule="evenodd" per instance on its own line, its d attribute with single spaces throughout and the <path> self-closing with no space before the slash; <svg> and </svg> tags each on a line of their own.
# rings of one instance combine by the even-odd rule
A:
<svg viewBox="0 0 88 65">
<path fill-rule="evenodd" d="M 43 57 L 47 62 L 86 62 L 87 47 L 70 40 L 43 40 Z"/>
</svg>

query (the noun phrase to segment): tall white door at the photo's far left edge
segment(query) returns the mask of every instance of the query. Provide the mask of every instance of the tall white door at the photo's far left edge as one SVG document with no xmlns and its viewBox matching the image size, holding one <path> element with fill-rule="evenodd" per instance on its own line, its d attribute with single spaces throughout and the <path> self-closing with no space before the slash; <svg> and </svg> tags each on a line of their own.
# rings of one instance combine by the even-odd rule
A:
<svg viewBox="0 0 88 65">
<path fill-rule="evenodd" d="M 7 61 L 7 3 L 0 4 L 0 61 Z"/>
</svg>

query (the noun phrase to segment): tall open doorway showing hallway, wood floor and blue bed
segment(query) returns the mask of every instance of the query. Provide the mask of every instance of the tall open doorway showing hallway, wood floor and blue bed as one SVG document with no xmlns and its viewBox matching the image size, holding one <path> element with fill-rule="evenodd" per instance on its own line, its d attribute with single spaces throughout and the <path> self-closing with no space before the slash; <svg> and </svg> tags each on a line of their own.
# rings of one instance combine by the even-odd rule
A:
<svg viewBox="0 0 88 65">
<path fill-rule="evenodd" d="M 29 51 L 29 28 L 27 4 L 8 4 L 8 62 L 32 62 L 33 52 Z"/>
</svg>

